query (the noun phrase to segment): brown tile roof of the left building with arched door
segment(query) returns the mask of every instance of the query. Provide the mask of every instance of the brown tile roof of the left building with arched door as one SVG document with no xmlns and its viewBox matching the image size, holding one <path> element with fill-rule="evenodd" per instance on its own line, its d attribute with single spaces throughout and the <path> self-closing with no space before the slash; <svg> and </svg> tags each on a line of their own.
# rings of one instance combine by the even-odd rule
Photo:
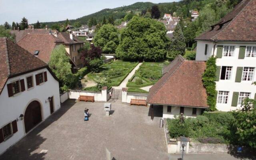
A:
<svg viewBox="0 0 256 160">
<path fill-rule="evenodd" d="M 0 93 L 8 78 L 46 67 L 48 68 L 46 63 L 18 44 L 5 37 L 0 38 Z"/>
</svg>

